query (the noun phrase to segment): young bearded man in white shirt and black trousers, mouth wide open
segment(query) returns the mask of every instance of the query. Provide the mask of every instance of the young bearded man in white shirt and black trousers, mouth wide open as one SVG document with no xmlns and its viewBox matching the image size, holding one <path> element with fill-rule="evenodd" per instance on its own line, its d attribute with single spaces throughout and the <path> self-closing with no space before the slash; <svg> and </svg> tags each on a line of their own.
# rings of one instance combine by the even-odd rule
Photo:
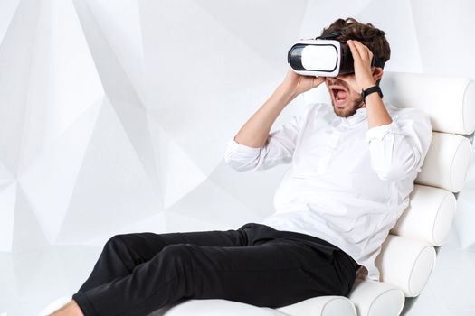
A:
<svg viewBox="0 0 475 316">
<path fill-rule="evenodd" d="M 379 279 L 375 257 L 413 191 L 432 137 L 422 112 L 385 105 L 374 87 L 389 60 L 385 33 L 338 19 L 355 73 L 305 77 L 289 70 L 229 142 L 225 161 L 252 172 L 291 163 L 276 212 L 236 230 L 116 235 L 88 280 L 53 315 L 147 315 L 180 299 L 221 298 L 280 307 L 318 295 L 347 295 L 360 267 Z M 312 104 L 271 134 L 293 98 L 325 83 L 332 105 Z"/>
</svg>

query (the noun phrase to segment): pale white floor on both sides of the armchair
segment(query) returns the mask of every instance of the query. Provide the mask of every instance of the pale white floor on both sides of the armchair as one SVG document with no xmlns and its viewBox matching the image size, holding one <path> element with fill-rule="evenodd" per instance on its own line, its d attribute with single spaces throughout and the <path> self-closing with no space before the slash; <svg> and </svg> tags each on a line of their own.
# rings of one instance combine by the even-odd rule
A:
<svg viewBox="0 0 475 316">
<path fill-rule="evenodd" d="M 50 246 L 0 253 L 0 316 L 38 315 L 53 300 L 71 295 L 89 275 L 100 250 Z M 429 283 L 406 315 L 475 315 L 475 251 L 462 250 L 456 234 L 441 247 Z"/>
</svg>

